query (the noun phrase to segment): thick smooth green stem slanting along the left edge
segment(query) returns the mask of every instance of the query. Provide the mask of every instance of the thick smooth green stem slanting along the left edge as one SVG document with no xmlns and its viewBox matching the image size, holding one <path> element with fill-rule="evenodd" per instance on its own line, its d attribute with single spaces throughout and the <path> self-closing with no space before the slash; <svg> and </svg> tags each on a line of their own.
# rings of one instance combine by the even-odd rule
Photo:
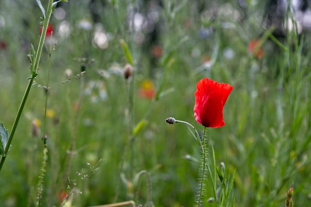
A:
<svg viewBox="0 0 311 207">
<path fill-rule="evenodd" d="M 39 46 L 38 46 L 38 49 L 37 49 L 37 52 L 36 52 L 36 55 L 35 55 L 35 66 L 34 66 L 35 72 L 37 72 L 37 70 L 38 70 L 38 65 L 39 65 L 39 61 L 40 61 L 40 56 L 41 56 L 42 48 L 43 48 L 43 45 L 44 45 L 45 35 L 46 35 L 47 29 L 48 29 L 48 24 L 49 24 L 50 17 L 52 15 L 52 3 L 53 3 L 53 0 L 49 0 L 48 10 L 47 10 L 46 18 L 44 19 L 44 25 L 43 25 L 43 30 L 42 30 L 40 41 L 39 41 Z M 20 116 L 22 114 L 22 111 L 24 109 L 26 100 L 27 100 L 28 95 L 30 93 L 31 87 L 32 87 L 32 85 L 34 83 L 34 80 L 35 80 L 35 77 L 32 75 L 32 77 L 29 79 L 29 82 L 28 82 L 25 94 L 24 94 L 23 99 L 22 99 L 22 101 L 20 103 L 20 106 L 18 108 L 17 115 L 15 117 L 15 120 L 14 120 L 14 123 L 13 123 L 13 127 L 12 127 L 12 130 L 11 130 L 8 142 L 7 142 L 7 144 L 6 144 L 5 148 L 4 148 L 4 155 L 2 156 L 1 162 L 0 162 L 0 171 L 2 169 L 2 166 L 4 164 L 5 159 L 7 157 L 7 154 L 9 152 L 9 149 L 10 149 L 10 146 L 11 146 L 11 142 L 13 140 L 13 136 L 15 134 L 15 131 L 16 131 L 16 128 L 17 128 L 17 125 L 18 125 L 19 118 L 20 118 Z"/>
</svg>

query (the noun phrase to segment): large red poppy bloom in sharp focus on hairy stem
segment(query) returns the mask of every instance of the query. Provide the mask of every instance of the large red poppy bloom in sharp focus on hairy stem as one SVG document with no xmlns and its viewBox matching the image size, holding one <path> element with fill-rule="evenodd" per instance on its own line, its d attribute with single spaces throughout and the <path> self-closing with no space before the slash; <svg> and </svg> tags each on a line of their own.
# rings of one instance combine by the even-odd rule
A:
<svg viewBox="0 0 311 207">
<path fill-rule="evenodd" d="M 223 109 L 233 86 L 218 83 L 208 78 L 196 85 L 194 117 L 204 127 L 222 127 L 225 125 Z"/>
</svg>

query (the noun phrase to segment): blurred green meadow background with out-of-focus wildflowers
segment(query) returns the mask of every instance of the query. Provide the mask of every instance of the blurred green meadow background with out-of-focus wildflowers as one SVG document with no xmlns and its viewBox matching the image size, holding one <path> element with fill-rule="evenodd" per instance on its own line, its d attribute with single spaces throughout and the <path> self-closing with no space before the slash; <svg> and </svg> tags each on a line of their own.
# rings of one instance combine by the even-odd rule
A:
<svg viewBox="0 0 311 207">
<path fill-rule="evenodd" d="M 208 129 L 212 169 L 221 162 L 230 176 L 236 169 L 232 206 L 281 207 L 291 187 L 294 206 L 308 206 L 310 33 L 274 36 L 264 25 L 268 2 L 241 2 L 59 3 L 0 172 L 1 206 L 35 206 L 43 134 L 48 159 L 41 206 L 60 206 L 72 191 L 74 207 L 145 204 L 148 185 L 156 207 L 193 206 L 200 148 L 186 126 L 164 120 L 172 116 L 203 129 L 193 121 L 193 106 L 196 83 L 205 77 L 233 86 L 226 125 Z M 42 4 L 46 8 L 47 0 Z M 31 43 L 38 46 L 40 16 L 35 0 L 0 1 L 0 121 L 9 132 L 30 77 L 27 54 Z M 293 20 L 293 13 L 287 10 L 284 19 Z M 261 41 L 262 57 L 249 51 L 254 39 Z M 123 68 L 130 61 L 121 40 L 133 59 L 128 80 Z M 141 171 L 150 180 L 142 176 L 138 189 Z M 209 179 L 205 188 L 207 200 L 213 197 Z"/>
</svg>

